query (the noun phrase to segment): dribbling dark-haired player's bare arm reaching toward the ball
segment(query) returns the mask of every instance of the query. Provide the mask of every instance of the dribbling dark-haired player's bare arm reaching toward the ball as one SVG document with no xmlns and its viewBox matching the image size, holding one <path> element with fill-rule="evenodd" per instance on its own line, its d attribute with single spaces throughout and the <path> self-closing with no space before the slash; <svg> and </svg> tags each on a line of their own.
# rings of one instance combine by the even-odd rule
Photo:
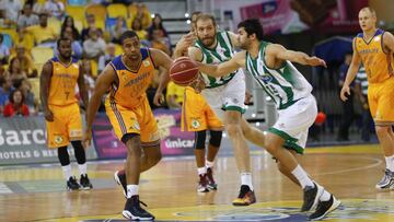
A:
<svg viewBox="0 0 394 222">
<path fill-rule="evenodd" d="M 197 62 L 199 71 L 211 77 L 223 77 L 242 67 L 245 67 L 246 51 L 240 51 L 234 55 L 229 61 L 220 65 L 206 65 Z"/>
</svg>

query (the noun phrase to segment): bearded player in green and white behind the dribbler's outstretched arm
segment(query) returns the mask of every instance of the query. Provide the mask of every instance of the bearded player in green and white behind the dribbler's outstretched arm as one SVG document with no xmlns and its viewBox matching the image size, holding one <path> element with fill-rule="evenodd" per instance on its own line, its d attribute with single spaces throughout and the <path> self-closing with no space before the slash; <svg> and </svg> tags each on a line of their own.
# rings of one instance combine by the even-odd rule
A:
<svg viewBox="0 0 394 222">
<path fill-rule="evenodd" d="M 219 63 L 230 60 L 234 55 L 234 47 L 240 46 L 236 35 L 231 32 L 217 31 L 216 20 L 210 14 L 200 14 L 196 19 L 196 44 L 188 49 L 188 56 L 204 63 Z M 175 56 L 194 42 L 193 33 L 184 36 L 177 44 Z M 233 70 L 220 78 L 211 78 L 202 73 L 205 85 L 201 95 L 224 124 L 234 149 L 234 157 L 241 174 L 241 188 L 234 206 L 248 206 L 256 202 L 252 184 L 250 150 L 245 135 L 241 128 L 242 114 L 245 112 L 245 80 L 244 73 Z M 195 87 L 197 89 L 197 87 Z"/>
</svg>

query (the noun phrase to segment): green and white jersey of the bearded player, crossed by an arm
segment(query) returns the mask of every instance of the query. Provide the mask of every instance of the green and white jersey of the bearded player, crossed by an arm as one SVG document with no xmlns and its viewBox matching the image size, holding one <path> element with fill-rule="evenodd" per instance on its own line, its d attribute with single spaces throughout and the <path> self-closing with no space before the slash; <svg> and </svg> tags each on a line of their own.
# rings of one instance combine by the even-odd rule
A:
<svg viewBox="0 0 394 222">
<path fill-rule="evenodd" d="M 196 42 L 195 47 L 199 48 L 202 52 L 202 63 L 218 65 L 230 60 L 234 56 L 235 51 L 231 44 L 231 38 L 228 32 L 218 32 L 216 38 L 217 45 L 213 49 L 205 47 L 200 40 Z M 233 79 L 236 72 L 237 71 L 229 73 L 221 78 L 209 77 L 205 73 L 201 74 L 206 83 L 206 89 L 212 89 L 227 84 L 230 80 Z"/>
</svg>

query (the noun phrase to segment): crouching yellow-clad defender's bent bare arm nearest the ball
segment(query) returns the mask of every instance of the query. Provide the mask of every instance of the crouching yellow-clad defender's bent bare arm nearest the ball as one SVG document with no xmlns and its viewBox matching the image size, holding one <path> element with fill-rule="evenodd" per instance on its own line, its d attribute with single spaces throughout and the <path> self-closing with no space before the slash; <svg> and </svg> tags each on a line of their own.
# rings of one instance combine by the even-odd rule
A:
<svg viewBox="0 0 394 222">
<path fill-rule="evenodd" d="M 150 48 L 149 50 L 152 55 L 154 65 L 159 68 L 164 69 L 164 71 L 161 72 L 160 83 L 159 83 L 158 90 L 153 97 L 154 105 L 160 106 L 164 102 L 163 90 L 170 82 L 169 70 L 170 70 L 171 63 L 173 61 L 166 54 L 164 54 L 161 50 L 153 49 L 153 48 Z"/>
</svg>

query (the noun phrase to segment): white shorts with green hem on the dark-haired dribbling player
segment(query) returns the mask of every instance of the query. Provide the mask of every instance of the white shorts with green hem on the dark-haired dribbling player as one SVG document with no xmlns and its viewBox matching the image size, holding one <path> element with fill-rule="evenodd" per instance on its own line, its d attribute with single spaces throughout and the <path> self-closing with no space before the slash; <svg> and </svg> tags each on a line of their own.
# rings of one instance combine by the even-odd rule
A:
<svg viewBox="0 0 394 222">
<path fill-rule="evenodd" d="M 311 94 L 286 109 L 278 110 L 279 118 L 269 132 L 285 139 L 285 148 L 302 154 L 308 139 L 308 130 L 317 116 L 316 100 Z"/>
</svg>

